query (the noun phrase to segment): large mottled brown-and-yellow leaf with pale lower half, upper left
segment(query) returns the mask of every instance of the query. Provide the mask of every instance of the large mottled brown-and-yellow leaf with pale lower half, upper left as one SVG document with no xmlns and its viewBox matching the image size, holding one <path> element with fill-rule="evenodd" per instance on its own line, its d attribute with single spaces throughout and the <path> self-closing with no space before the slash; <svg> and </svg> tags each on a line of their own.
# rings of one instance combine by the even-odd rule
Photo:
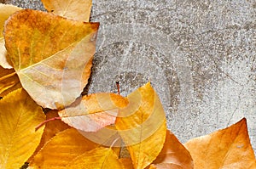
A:
<svg viewBox="0 0 256 169">
<path fill-rule="evenodd" d="M 61 109 L 79 97 L 90 76 L 98 26 L 31 9 L 9 18 L 8 57 L 32 99 Z"/>
</svg>

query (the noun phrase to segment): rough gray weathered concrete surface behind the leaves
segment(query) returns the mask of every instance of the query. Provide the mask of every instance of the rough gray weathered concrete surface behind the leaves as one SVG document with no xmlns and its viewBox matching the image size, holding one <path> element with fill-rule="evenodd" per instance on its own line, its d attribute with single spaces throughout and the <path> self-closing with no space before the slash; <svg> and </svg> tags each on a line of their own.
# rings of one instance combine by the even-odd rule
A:
<svg viewBox="0 0 256 169">
<path fill-rule="evenodd" d="M 40 1 L 6 1 L 42 9 Z M 89 93 L 150 81 L 183 143 L 247 118 L 256 149 L 254 0 L 96 0 L 101 23 Z"/>
</svg>

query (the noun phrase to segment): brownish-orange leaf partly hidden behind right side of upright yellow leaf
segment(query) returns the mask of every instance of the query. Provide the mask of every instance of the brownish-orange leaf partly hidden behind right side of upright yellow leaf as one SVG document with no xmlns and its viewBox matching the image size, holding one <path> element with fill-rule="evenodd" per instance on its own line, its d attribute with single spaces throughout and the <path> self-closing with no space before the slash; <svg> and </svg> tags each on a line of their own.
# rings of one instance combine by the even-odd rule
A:
<svg viewBox="0 0 256 169">
<path fill-rule="evenodd" d="M 151 168 L 157 169 L 193 169 L 193 160 L 189 151 L 175 135 L 166 131 L 166 142 Z"/>
</svg>

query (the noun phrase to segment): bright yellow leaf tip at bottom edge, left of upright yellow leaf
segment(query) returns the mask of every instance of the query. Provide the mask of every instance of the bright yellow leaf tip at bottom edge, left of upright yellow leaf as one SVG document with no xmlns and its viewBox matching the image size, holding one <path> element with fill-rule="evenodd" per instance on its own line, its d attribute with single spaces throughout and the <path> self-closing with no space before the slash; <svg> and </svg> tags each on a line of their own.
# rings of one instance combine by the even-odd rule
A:
<svg viewBox="0 0 256 169">
<path fill-rule="evenodd" d="M 80 155 L 67 165 L 68 169 L 122 169 L 118 156 L 111 148 L 96 148 Z"/>
</svg>

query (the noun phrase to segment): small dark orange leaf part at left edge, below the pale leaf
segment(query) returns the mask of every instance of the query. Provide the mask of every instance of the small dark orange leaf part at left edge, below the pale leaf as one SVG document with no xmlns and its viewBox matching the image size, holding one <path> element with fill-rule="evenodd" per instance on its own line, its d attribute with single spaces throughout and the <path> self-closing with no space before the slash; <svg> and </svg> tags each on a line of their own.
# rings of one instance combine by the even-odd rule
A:
<svg viewBox="0 0 256 169">
<path fill-rule="evenodd" d="M 14 69 L 3 69 L 0 66 L 0 96 L 3 97 L 9 92 L 21 87 L 19 77 Z"/>
</svg>

